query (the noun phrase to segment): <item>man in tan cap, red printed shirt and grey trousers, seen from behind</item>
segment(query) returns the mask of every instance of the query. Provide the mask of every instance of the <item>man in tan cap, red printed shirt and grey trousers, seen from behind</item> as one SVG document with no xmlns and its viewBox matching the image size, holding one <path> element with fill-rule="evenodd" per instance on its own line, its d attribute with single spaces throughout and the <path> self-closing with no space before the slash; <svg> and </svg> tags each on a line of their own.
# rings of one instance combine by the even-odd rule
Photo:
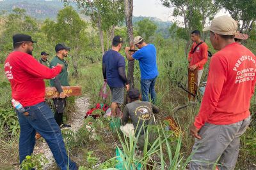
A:
<svg viewBox="0 0 256 170">
<path fill-rule="evenodd" d="M 228 16 L 212 20 L 212 56 L 200 111 L 191 126 L 195 136 L 189 169 L 234 169 L 239 138 L 250 124 L 250 99 L 255 88 L 255 55 L 234 41 L 237 22 Z"/>
</svg>

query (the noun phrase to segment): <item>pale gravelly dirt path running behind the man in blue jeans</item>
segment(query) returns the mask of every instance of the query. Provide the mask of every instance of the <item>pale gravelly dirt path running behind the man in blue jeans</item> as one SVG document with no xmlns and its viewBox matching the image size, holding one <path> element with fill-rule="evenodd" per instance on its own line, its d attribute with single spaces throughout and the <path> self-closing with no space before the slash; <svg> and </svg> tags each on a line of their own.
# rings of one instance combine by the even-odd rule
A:
<svg viewBox="0 0 256 170">
<path fill-rule="evenodd" d="M 83 124 L 84 114 L 88 110 L 89 100 L 87 97 L 80 97 L 76 99 L 76 113 L 70 114 L 70 120 L 68 124 L 71 125 L 70 130 L 76 132 L 79 127 Z M 44 140 L 44 139 L 43 139 Z M 43 153 L 45 157 L 49 160 L 48 164 L 45 164 L 44 169 L 52 169 L 52 166 L 55 164 L 55 160 L 52 156 L 51 150 L 49 149 L 47 143 L 45 141 L 40 141 L 36 143 L 34 153 Z"/>
</svg>

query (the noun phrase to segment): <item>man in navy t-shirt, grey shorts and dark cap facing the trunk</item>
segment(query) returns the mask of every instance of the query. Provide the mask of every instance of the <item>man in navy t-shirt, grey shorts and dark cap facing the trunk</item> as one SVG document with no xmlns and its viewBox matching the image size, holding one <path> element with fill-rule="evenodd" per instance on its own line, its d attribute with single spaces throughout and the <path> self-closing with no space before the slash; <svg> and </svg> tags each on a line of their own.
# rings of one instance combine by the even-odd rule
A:
<svg viewBox="0 0 256 170">
<path fill-rule="evenodd" d="M 124 103 L 124 86 L 129 90 L 129 84 L 125 75 L 125 60 L 124 57 L 118 53 L 123 44 L 121 36 L 115 36 L 112 41 L 112 49 L 104 53 L 102 59 L 102 73 L 104 81 L 107 81 L 111 93 L 111 113 L 116 117 L 116 108 L 118 104 Z"/>
</svg>

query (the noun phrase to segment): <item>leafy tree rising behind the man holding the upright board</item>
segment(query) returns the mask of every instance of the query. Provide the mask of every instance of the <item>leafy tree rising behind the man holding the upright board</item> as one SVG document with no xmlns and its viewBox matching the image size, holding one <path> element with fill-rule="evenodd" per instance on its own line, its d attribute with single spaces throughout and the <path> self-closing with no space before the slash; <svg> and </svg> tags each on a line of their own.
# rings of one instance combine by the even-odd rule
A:
<svg viewBox="0 0 256 170">
<path fill-rule="evenodd" d="M 162 4 L 168 8 L 174 8 L 173 16 L 182 17 L 186 34 L 194 29 L 202 30 L 207 21 L 213 19 L 219 7 L 214 5 L 212 0 L 161 0 Z M 185 54 L 188 55 L 190 39 L 187 41 Z"/>
</svg>

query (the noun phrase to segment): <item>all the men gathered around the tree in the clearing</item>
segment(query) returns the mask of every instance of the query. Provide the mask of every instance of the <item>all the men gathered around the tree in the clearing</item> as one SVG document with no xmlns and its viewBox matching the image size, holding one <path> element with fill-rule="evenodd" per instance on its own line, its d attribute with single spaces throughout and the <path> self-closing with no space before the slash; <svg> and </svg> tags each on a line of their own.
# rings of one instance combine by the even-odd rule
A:
<svg viewBox="0 0 256 170">
<path fill-rule="evenodd" d="M 216 162 L 218 169 L 234 169 L 239 153 L 239 138 L 250 124 L 249 109 L 255 89 L 256 58 L 250 50 L 235 41 L 237 22 L 233 18 L 214 18 L 211 26 L 204 31 L 210 32 L 211 44 L 218 52 L 211 58 L 200 111 L 190 127 L 195 144 L 189 169 L 212 169 Z M 199 31 L 191 32 L 191 39 L 194 43 L 188 56 L 189 69 L 197 70 L 196 83 L 199 85 L 207 62 L 207 44 L 200 39 Z M 28 35 L 14 35 L 14 50 L 4 64 L 6 77 L 12 87 L 12 97 L 28 112 L 24 115 L 17 111 L 20 124 L 20 164 L 26 155 L 33 153 L 37 131 L 47 141 L 61 169 L 77 169 L 76 163 L 67 156 L 60 130 L 67 95 L 62 90 L 60 98 L 54 99 L 55 115 L 44 99 L 44 79 L 51 79 L 51 85 L 60 93 L 61 86 L 69 85 L 68 65 L 64 58 L 70 48 L 58 44 L 55 47 L 56 57 L 51 62 L 47 61 L 45 52 L 41 53 L 42 59 L 38 62 L 32 56 L 33 43 L 36 41 Z M 156 47 L 147 44 L 141 36 L 134 38 L 134 46 L 138 50 L 134 46 L 125 48 L 127 60 L 136 59 L 140 64 L 140 94 L 138 89 L 129 86 L 125 74 L 125 59 L 119 53 L 123 43 L 121 36 L 113 38 L 112 49 L 104 53 L 102 58 L 102 73 L 112 93 L 112 116 L 121 118 L 120 129 L 126 136 L 132 138 L 139 135 L 138 147 L 143 148 L 145 128 L 156 124 L 154 113 L 159 113 L 154 105 L 158 76 L 157 52 Z M 125 89 L 130 103 L 118 115 L 118 107 L 124 103 Z M 129 118 L 132 124 L 128 124 Z"/>
</svg>

